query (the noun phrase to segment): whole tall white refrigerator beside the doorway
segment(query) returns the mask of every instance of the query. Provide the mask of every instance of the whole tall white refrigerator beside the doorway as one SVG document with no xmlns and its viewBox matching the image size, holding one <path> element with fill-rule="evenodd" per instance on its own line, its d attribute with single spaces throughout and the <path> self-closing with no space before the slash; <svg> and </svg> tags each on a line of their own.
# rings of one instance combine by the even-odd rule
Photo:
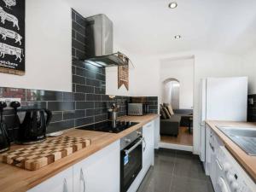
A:
<svg viewBox="0 0 256 192">
<path fill-rule="evenodd" d="M 206 119 L 247 121 L 247 82 L 247 77 L 201 80 L 201 161 L 206 160 Z"/>
</svg>

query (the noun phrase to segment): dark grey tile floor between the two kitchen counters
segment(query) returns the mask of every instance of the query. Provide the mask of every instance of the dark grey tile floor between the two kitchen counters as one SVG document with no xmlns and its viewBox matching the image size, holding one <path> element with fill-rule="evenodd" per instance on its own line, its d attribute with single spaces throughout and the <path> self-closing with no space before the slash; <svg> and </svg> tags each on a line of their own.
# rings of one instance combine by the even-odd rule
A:
<svg viewBox="0 0 256 192">
<path fill-rule="evenodd" d="M 160 148 L 137 192 L 213 192 L 199 156 Z"/>
</svg>

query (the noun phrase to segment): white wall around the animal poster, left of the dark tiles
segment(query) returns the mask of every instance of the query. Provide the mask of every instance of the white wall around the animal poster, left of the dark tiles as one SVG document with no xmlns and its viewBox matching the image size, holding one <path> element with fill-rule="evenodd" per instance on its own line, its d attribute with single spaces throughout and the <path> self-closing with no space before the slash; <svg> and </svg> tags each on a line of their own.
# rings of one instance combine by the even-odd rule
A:
<svg viewBox="0 0 256 192">
<path fill-rule="evenodd" d="M 0 86 L 72 90 L 71 8 L 61 0 L 26 0 L 26 73 L 0 73 Z"/>
</svg>

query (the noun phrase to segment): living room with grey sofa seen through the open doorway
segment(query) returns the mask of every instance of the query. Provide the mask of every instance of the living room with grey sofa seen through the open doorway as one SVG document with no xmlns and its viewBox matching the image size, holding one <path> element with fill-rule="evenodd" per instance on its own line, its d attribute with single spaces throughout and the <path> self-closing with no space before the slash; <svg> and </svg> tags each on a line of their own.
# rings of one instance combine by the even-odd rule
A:
<svg viewBox="0 0 256 192">
<path fill-rule="evenodd" d="M 194 57 L 160 61 L 160 143 L 193 149 Z"/>
</svg>

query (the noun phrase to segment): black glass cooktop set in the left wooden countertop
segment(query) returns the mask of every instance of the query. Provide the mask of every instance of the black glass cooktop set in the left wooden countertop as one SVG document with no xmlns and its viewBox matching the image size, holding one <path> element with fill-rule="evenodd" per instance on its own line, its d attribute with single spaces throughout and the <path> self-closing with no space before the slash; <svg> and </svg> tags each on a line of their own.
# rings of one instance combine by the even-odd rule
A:
<svg viewBox="0 0 256 192">
<path fill-rule="evenodd" d="M 133 125 L 137 125 L 137 122 L 125 122 L 125 121 L 118 121 L 116 127 L 113 127 L 111 121 L 102 121 L 100 123 L 85 125 L 79 127 L 79 130 L 89 130 L 89 131 L 102 131 L 102 132 L 111 132 L 111 133 L 119 133 L 130 128 Z"/>
</svg>

